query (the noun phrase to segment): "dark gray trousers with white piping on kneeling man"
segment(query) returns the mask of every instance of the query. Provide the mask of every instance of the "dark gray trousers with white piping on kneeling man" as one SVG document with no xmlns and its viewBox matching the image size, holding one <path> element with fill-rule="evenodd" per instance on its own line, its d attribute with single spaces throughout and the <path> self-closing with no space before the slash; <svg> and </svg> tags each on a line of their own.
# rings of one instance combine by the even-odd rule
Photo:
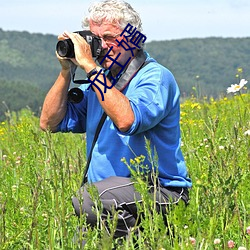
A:
<svg viewBox="0 0 250 250">
<path fill-rule="evenodd" d="M 188 189 L 182 187 L 162 187 L 149 183 L 149 192 L 155 197 L 158 212 L 167 212 L 170 204 L 189 201 Z M 102 221 L 112 219 L 114 211 L 118 214 L 117 227 L 114 237 L 124 237 L 138 222 L 137 204 L 142 202 L 141 194 L 135 188 L 135 181 L 130 178 L 112 176 L 99 182 L 93 183 L 99 200 L 102 203 L 102 211 L 99 214 Z M 155 187 L 156 186 L 156 190 Z M 82 202 L 81 202 L 82 201 Z M 73 197 L 72 204 L 78 217 L 86 214 L 87 223 L 91 226 L 97 224 L 97 213 L 93 209 L 96 202 L 91 199 L 87 185 L 79 190 L 79 196 Z M 105 223 L 104 223 L 105 224 Z M 108 230 L 108 228 L 107 228 Z"/>
</svg>

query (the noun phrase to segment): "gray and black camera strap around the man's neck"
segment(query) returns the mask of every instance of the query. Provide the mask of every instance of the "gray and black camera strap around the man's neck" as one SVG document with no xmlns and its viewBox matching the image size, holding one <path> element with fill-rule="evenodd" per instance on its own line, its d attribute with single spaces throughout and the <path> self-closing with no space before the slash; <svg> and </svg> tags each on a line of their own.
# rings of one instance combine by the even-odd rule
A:
<svg viewBox="0 0 250 250">
<path fill-rule="evenodd" d="M 116 83 L 115 87 L 122 91 L 126 86 L 130 83 L 130 81 L 133 79 L 133 77 L 137 74 L 137 72 L 146 66 L 150 61 L 146 61 L 146 55 L 144 54 L 143 50 L 138 51 L 137 56 L 131 61 L 127 69 L 125 70 L 124 74 L 121 75 L 118 82 Z M 89 164 L 92 158 L 92 152 L 95 146 L 95 143 L 98 139 L 98 136 L 100 134 L 100 131 L 102 129 L 102 126 L 106 120 L 107 114 L 104 112 L 102 114 L 102 117 L 97 125 L 95 136 L 91 145 L 91 149 L 89 152 L 88 160 L 85 166 L 84 174 L 83 174 L 83 180 L 81 183 L 81 187 L 87 182 L 87 174 L 89 169 Z"/>
</svg>

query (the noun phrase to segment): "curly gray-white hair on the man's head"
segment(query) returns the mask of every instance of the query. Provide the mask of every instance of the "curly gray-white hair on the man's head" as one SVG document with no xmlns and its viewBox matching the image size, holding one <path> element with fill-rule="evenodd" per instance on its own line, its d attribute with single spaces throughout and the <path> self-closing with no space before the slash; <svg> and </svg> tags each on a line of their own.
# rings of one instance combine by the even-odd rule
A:
<svg viewBox="0 0 250 250">
<path fill-rule="evenodd" d="M 104 20 L 118 25 L 121 30 L 130 23 L 142 32 L 142 23 L 139 14 L 131 5 L 122 0 L 104 0 L 92 4 L 89 8 L 89 14 L 82 21 L 82 27 L 89 29 L 89 22 L 92 20 L 101 24 Z"/>
</svg>

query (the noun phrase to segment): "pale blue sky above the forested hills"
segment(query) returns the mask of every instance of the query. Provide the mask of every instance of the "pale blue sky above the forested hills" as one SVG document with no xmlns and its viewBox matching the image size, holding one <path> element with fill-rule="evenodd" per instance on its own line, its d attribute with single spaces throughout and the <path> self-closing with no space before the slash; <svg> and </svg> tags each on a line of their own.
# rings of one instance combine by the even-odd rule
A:
<svg viewBox="0 0 250 250">
<path fill-rule="evenodd" d="M 127 0 L 141 15 L 147 41 L 250 37 L 249 0 Z M 0 28 L 58 35 L 81 28 L 87 0 L 0 2 Z M 1 39 L 1 38 L 0 38 Z"/>
</svg>

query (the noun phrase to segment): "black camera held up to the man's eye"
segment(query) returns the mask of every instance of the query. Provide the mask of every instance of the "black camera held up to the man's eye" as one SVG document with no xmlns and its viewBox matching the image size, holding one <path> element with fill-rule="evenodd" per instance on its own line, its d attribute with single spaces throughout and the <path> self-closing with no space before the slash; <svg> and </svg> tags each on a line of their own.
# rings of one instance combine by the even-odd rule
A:
<svg viewBox="0 0 250 250">
<path fill-rule="evenodd" d="M 90 30 L 76 31 L 74 33 L 78 33 L 86 40 L 86 42 L 90 45 L 92 56 L 98 58 L 102 52 L 101 38 L 95 36 Z M 58 41 L 56 51 L 61 57 L 75 57 L 74 44 L 70 39 Z"/>
</svg>

